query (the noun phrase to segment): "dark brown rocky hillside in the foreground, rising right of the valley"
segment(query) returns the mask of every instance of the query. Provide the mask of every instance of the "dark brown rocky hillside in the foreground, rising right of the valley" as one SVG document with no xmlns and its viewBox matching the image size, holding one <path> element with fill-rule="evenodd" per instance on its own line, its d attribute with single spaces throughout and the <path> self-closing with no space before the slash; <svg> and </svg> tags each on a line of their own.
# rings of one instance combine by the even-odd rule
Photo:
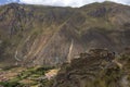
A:
<svg viewBox="0 0 130 87">
<path fill-rule="evenodd" d="M 83 53 L 80 59 L 64 64 L 50 87 L 130 87 L 130 54 L 115 59 L 108 54 L 105 55 L 104 50 L 94 55 Z"/>
</svg>

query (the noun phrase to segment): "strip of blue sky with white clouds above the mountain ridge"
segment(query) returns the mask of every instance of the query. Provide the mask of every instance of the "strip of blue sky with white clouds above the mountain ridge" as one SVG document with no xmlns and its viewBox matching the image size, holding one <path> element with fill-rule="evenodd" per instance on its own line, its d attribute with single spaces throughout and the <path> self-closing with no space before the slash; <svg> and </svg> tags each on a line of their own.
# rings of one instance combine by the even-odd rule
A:
<svg viewBox="0 0 130 87">
<path fill-rule="evenodd" d="M 18 2 L 29 4 L 44 4 L 44 5 L 57 5 L 57 7 L 81 7 L 92 2 L 103 2 L 105 0 L 0 0 L 0 4 Z M 123 4 L 130 4 L 130 0 L 107 0 Z"/>
</svg>

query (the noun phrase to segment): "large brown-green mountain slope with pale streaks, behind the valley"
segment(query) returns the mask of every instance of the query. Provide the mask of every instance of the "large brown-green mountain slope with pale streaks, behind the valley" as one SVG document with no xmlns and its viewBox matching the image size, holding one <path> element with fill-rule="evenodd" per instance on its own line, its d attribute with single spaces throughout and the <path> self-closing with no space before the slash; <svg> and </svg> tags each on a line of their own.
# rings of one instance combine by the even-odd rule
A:
<svg viewBox="0 0 130 87">
<path fill-rule="evenodd" d="M 91 48 L 121 52 L 129 38 L 129 5 L 0 7 L 0 66 L 61 64 Z"/>
</svg>

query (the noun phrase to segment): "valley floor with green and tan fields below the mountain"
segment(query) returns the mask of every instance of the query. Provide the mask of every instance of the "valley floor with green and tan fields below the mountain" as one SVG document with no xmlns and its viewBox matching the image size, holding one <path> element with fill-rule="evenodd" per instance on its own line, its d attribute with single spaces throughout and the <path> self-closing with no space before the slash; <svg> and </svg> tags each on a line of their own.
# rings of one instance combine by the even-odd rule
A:
<svg viewBox="0 0 130 87">
<path fill-rule="evenodd" d="M 51 80 L 58 69 L 54 67 L 13 67 L 0 71 L 0 87 L 39 87 Z M 50 83 L 51 84 L 51 83 Z"/>
</svg>

